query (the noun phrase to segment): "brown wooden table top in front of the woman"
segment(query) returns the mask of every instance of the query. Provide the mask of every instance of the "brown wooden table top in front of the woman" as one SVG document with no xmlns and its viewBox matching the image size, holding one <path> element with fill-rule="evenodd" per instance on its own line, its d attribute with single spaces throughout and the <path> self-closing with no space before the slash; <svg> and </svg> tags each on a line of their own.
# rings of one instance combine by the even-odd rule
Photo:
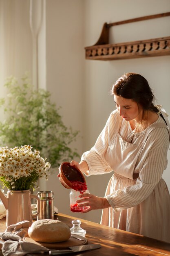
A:
<svg viewBox="0 0 170 256">
<path fill-rule="evenodd" d="M 83 216 L 83 215 L 82 215 Z M 71 221 L 76 219 L 76 214 L 68 216 L 59 213 L 55 216 L 72 227 Z M 127 231 L 107 227 L 95 222 L 80 219 L 81 227 L 86 230 L 88 244 L 99 243 L 102 247 L 91 251 L 72 254 L 77 256 L 170 256 L 170 243 L 145 236 L 133 234 Z M 0 232 L 6 229 L 6 219 L 0 220 Z M 159 230 L 158 230 L 159 232 Z M 48 254 L 28 254 L 32 256 Z"/>
</svg>

